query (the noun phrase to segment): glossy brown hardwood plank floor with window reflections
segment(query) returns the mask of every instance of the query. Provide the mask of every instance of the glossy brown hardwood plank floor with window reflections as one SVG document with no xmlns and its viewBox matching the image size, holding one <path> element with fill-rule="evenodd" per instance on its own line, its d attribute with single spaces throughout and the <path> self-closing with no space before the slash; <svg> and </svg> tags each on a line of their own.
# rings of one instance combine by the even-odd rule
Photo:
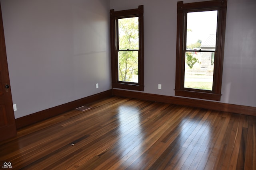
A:
<svg viewBox="0 0 256 170">
<path fill-rule="evenodd" d="M 18 130 L 12 169 L 256 170 L 256 117 L 112 97 Z"/>
</svg>

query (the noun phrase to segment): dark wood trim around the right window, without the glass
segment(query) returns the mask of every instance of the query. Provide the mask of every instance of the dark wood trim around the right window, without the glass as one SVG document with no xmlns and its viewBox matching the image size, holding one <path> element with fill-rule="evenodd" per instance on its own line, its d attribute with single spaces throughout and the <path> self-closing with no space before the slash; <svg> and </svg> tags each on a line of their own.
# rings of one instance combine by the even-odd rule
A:
<svg viewBox="0 0 256 170">
<path fill-rule="evenodd" d="M 206 100 L 220 101 L 222 86 L 222 69 L 224 55 L 224 39 L 226 25 L 226 0 L 213 0 L 183 4 L 177 3 L 177 47 L 176 47 L 176 82 L 175 96 L 200 98 Z M 188 12 L 218 10 L 217 33 L 216 33 L 216 54 L 214 59 L 213 89 L 199 90 L 184 88 L 185 72 L 185 14 Z"/>
</svg>

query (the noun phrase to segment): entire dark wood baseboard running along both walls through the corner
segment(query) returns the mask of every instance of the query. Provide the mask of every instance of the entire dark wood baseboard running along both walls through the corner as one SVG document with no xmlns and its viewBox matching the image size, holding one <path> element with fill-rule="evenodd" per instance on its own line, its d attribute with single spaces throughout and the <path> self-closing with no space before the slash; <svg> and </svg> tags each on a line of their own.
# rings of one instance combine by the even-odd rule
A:
<svg viewBox="0 0 256 170">
<path fill-rule="evenodd" d="M 44 119 L 48 119 L 50 117 L 59 115 L 66 111 L 70 111 L 82 105 L 92 103 L 102 98 L 107 98 L 110 96 L 122 96 L 127 98 L 136 98 L 141 100 L 164 102 L 169 104 L 177 104 L 177 105 L 192 106 L 192 107 L 200 107 L 204 109 L 213 109 L 218 111 L 227 111 L 231 113 L 239 113 L 244 115 L 256 116 L 256 107 L 241 106 L 241 105 L 235 105 L 235 104 L 224 104 L 219 102 L 210 102 L 210 101 L 204 101 L 204 100 L 195 100 L 195 99 L 179 98 L 179 97 L 173 97 L 173 96 L 164 96 L 164 95 L 158 95 L 158 94 L 148 94 L 148 93 L 142 93 L 142 92 L 131 92 L 126 90 L 112 89 L 112 90 L 107 90 L 105 92 L 101 92 L 98 94 L 94 94 L 92 96 L 88 96 L 86 98 L 75 100 L 73 102 L 62 104 L 60 106 L 52 107 L 43 111 L 38 111 L 36 113 L 32 113 L 24 117 L 17 118 L 15 119 L 16 128 L 19 129 L 19 128 L 31 125 L 33 123 L 42 121 Z"/>
</svg>

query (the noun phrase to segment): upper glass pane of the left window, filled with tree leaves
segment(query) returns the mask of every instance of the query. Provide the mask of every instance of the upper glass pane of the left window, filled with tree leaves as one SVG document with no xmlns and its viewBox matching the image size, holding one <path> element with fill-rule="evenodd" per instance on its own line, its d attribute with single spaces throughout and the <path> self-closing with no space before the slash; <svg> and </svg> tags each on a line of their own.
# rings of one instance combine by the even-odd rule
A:
<svg viewBox="0 0 256 170">
<path fill-rule="evenodd" d="M 118 38 L 120 50 L 139 49 L 138 17 L 118 19 Z"/>
</svg>

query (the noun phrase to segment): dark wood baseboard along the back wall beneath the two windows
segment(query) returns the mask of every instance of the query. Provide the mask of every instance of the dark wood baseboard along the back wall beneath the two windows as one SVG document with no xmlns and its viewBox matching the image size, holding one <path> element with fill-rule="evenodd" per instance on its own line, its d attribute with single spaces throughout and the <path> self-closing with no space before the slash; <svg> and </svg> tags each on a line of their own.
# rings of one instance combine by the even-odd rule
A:
<svg viewBox="0 0 256 170">
<path fill-rule="evenodd" d="M 244 115 L 256 116 L 256 107 L 250 107 L 250 106 L 225 104 L 225 103 L 219 103 L 219 102 L 179 98 L 179 97 L 164 96 L 164 95 L 158 95 L 158 94 L 148 94 L 148 93 L 142 93 L 142 92 L 131 92 L 131 91 L 117 90 L 117 89 L 113 89 L 112 94 L 114 96 L 123 96 L 127 98 L 136 98 L 141 100 L 164 102 L 164 103 L 192 106 L 192 107 L 200 107 L 204 109 L 212 109 L 212 110 L 218 110 L 218 111 L 226 111 L 231 113 L 239 113 Z"/>
</svg>

